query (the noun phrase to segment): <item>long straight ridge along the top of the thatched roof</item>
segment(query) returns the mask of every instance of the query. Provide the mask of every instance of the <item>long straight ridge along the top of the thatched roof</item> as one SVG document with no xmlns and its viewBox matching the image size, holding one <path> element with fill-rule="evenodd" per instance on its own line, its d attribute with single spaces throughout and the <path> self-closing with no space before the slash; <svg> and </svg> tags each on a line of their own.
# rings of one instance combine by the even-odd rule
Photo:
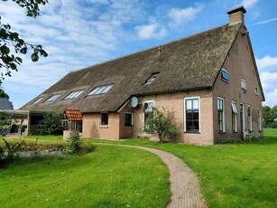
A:
<svg viewBox="0 0 277 208">
<path fill-rule="evenodd" d="M 149 50 L 152 50 L 152 49 L 154 49 L 154 48 L 161 47 L 161 46 L 164 46 L 164 45 L 167 45 L 167 44 L 170 44 L 170 43 L 179 42 L 179 41 L 181 41 L 181 40 L 185 40 L 185 39 L 191 38 L 191 37 L 193 37 L 193 36 L 200 35 L 200 34 L 202 34 L 202 33 L 207 33 L 207 32 L 216 30 L 216 29 L 218 29 L 218 28 L 220 28 L 220 27 L 227 26 L 227 25 L 229 25 L 229 24 L 222 24 L 222 25 L 220 25 L 220 26 L 212 27 L 212 28 L 210 28 L 210 29 L 208 29 L 208 30 L 206 30 L 206 31 L 201 31 L 201 32 L 199 32 L 199 33 L 189 34 L 188 36 L 184 36 L 184 37 L 181 37 L 181 38 L 179 38 L 179 39 L 176 39 L 176 40 L 173 40 L 173 41 L 170 41 L 170 42 L 167 42 L 167 43 L 162 43 L 162 44 L 159 44 L 159 45 L 155 45 L 155 46 L 152 46 L 152 47 L 150 47 L 150 48 L 143 49 L 143 50 L 140 50 L 140 51 L 137 51 L 137 52 L 131 52 L 131 53 L 128 53 L 128 54 L 125 54 L 125 55 L 116 57 L 116 58 L 114 58 L 114 59 L 107 60 L 107 61 L 103 61 L 103 62 L 99 62 L 99 63 L 97 63 L 97 64 L 94 64 L 94 65 L 91 65 L 91 66 L 88 66 L 88 67 L 85 67 L 85 68 L 82 68 L 82 69 L 79 69 L 79 70 L 76 70 L 76 71 L 69 71 L 68 74 L 70 74 L 70 73 L 75 73 L 75 72 L 79 72 L 79 71 L 86 71 L 86 70 L 88 70 L 88 69 L 91 69 L 91 67 L 94 67 L 94 66 L 97 66 L 97 65 L 101 65 L 101 64 L 104 64 L 104 63 L 106 63 L 106 62 L 119 60 L 119 59 L 125 58 L 125 57 L 127 57 L 127 56 L 134 55 L 134 54 L 136 54 L 136 53 L 146 52 L 146 51 L 149 51 Z M 232 25 L 232 26 L 233 26 L 233 25 Z"/>
</svg>

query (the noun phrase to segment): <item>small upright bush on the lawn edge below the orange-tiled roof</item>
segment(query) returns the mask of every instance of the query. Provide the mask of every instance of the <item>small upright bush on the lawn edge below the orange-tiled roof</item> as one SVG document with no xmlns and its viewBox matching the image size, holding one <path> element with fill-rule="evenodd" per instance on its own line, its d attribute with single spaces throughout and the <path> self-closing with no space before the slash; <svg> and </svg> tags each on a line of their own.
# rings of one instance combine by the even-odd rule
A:
<svg viewBox="0 0 277 208">
<path fill-rule="evenodd" d="M 81 152 L 82 142 L 79 138 L 78 131 L 72 131 L 65 148 L 65 152 L 69 154 L 78 154 Z"/>
</svg>

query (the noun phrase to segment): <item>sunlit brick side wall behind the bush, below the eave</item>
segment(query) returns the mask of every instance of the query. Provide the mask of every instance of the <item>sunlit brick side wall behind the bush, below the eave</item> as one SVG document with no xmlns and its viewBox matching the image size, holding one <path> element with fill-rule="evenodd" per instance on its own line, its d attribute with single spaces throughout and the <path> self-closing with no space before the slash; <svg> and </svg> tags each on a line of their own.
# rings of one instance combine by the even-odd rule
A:
<svg viewBox="0 0 277 208">
<path fill-rule="evenodd" d="M 140 97 L 140 105 L 134 109 L 134 137 L 150 136 L 143 133 L 143 102 L 153 100 L 155 108 L 162 109 L 163 107 L 174 111 L 175 124 L 181 129 L 179 141 L 199 145 L 214 144 L 211 95 L 210 90 L 191 90 Z M 199 97 L 200 100 L 200 133 L 184 132 L 184 99 L 191 97 Z"/>
</svg>

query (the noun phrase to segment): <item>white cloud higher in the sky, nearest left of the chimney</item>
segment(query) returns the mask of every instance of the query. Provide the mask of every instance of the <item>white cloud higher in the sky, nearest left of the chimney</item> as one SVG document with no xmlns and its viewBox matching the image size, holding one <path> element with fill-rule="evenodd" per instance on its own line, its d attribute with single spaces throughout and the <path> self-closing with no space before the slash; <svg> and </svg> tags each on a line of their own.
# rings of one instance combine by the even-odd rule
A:
<svg viewBox="0 0 277 208">
<path fill-rule="evenodd" d="M 197 5 L 196 7 L 188 7 L 185 9 L 172 8 L 169 12 L 171 18 L 171 27 L 180 27 L 183 24 L 187 24 L 193 20 L 199 12 L 201 12 L 203 5 Z"/>
</svg>

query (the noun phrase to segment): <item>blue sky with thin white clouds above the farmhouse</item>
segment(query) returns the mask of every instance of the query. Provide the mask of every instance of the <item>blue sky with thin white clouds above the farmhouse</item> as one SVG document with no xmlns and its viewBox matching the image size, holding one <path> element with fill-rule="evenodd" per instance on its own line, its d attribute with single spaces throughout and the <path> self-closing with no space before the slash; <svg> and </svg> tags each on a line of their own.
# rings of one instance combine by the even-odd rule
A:
<svg viewBox="0 0 277 208">
<path fill-rule="evenodd" d="M 245 5 L 245 24 L 266 101 L 277 104 L 277 1 L 275 0 L 49 0 L 41 16 L 0 1 L 2 24 L 29 43 L 41 43 L 47 58 L 23 57 L 19 71 L 2 84 L 14 109 L 76 71 L 128 53 L 167 43 L 228 22 L 226 11 Z"/>
</svg>

